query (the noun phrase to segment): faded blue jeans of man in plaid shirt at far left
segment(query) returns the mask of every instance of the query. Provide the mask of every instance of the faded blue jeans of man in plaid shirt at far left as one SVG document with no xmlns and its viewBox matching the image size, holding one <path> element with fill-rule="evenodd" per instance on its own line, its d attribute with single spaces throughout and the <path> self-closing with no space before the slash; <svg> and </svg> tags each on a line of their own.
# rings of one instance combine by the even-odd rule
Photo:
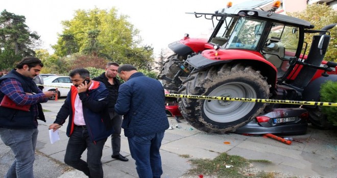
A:
<svg viewBox="0 0 337 178">
<path fill-rule="evenodd" d="M 11 147 L 15 157 L 5 177 L 34 177 L 33 163 L 38 133 L 37 129 L 0 128 L 1 139 Z"/>
</svg>

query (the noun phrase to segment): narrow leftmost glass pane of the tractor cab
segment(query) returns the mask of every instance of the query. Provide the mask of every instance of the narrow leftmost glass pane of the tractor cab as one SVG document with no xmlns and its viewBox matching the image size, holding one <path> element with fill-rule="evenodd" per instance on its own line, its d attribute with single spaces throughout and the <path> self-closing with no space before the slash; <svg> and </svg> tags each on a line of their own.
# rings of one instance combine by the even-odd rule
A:
<svg viewBox="0 0 337 178">
<path fill-rule="evenodd" d="M 224 17 L 221 19 L 216 26 L 218 32 L 216 32 L 215 37 L 211 37 L 210 43 L 220 46 L 227 43 L 230 32 L 235 25 L 235 20 L 237 20 L 237 17 Z"/>
</svg>

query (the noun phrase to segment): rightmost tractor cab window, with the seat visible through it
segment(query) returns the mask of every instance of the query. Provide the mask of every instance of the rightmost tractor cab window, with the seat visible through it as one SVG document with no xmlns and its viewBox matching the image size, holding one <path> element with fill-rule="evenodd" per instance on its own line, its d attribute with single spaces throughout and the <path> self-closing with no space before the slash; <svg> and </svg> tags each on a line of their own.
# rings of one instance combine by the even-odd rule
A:
<svg viewBox="0 0 337 178">
<path fill-rule="evenodd" d="M 298 34 L 296 27 L 280 23 L 272 23 L 262 54 L 266 60 L 277 68 L 277 77 L 282 77 L 289 68 L 288 60 L 295 57 L 298 47 Z"/>
</svg>

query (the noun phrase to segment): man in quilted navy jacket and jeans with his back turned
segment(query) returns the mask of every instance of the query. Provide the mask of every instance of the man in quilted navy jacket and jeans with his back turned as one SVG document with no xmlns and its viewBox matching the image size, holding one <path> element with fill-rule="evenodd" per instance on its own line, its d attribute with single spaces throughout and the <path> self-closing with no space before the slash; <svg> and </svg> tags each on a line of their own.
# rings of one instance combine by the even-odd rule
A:
<svg viewBox="0 0 337 178">
<path fill-rule="evenodd" d="M 124 115 L 122 128 L 138 176 L 160 177 L 163 171 L 159 149 L 169 127 L 164 88 L 158 80 L 138 72 L 132 65 L 119 66 L 118 75 L 126 82 L 119 86 L 115 111 Z"/>
</svg>

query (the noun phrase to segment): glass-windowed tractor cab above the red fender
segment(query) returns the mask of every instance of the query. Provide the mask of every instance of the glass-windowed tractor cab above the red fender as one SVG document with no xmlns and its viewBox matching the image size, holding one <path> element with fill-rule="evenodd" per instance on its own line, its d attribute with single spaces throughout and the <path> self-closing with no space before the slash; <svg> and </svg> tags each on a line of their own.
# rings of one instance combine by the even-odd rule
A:
<svg viewBox="0 0 337 178">
<path fill-rule="evenodd" d="M 312 28 L 309 22 L 301 20 L 302 24 L 291 24 L 286 22 L 289 19 L 281 22 L 273 19 L 280 16 L 279 14 L 271 12 L 263 14 L 253 10 L 239 11 L 235 15 L 227 13 L 222 15 L 220 18 L 219 14 L 213 14 L 220 20 L 208 41 L 208 44 L 219 45 L 219 50 L 258 51 L 264 60 L 276 68 L 277 78 L 284 76 L 291 58 L 304 57 L 300 54 L 304 52 L 302 49 L 304 29 Z M 281 18 L 283 17 L 275 19 Z"/>
</svg>

